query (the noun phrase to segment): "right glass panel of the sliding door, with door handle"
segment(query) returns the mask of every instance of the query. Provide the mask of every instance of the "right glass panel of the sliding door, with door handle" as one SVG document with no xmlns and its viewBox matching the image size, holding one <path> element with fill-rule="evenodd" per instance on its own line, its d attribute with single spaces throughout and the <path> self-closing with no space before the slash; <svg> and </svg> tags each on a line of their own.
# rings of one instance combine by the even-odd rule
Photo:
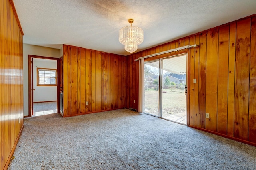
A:
<svg viewBox="0 0 256 170">
<path fill-rule="evenodd" d="M 186 124 L 187 55 L 162 59 L 162 115 Z"/>
</svg>

